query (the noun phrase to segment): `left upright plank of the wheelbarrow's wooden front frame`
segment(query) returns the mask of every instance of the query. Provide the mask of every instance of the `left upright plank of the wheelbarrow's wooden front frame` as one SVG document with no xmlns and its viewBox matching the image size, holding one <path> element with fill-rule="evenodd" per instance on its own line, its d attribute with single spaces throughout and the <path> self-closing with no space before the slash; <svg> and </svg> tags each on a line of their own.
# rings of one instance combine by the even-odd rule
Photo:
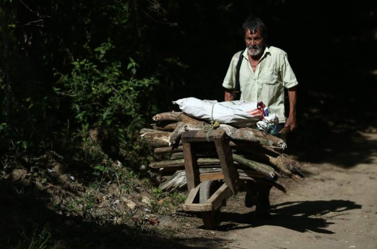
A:
<svg viewBox="0 0 377 249">
<path fill-rule="evenodd" d="M 183 143 L 183 155 L 186 170 L 187 190 L 191 191 L 200 183 L 199 167 L 196 162 L 194 148 L 190 143 Z"/>
</svg>

